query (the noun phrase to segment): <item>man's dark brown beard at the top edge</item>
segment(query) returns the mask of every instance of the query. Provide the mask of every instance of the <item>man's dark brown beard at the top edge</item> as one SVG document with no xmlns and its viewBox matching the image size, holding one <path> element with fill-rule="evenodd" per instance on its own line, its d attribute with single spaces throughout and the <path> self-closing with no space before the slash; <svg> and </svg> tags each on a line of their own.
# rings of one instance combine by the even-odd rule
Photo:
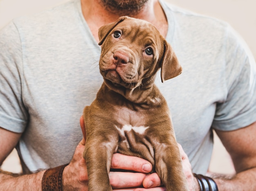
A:
<svg viewBox="0 0 256 191">
<path fill-rule="evenodd" d="M 139 13 L 147 1 L 148 0 L 99 0 L 105 9 L 120 16 L 132 16 Z"/>
</svg>

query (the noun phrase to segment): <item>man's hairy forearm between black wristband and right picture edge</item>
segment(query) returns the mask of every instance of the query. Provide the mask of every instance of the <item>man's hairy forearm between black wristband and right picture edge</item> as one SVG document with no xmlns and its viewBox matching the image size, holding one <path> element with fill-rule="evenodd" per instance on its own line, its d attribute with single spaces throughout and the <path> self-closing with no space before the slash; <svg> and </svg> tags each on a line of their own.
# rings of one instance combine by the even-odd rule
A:
<svg viewBox="0 0 256 191">
<path fill-rule="evenodd" d="M 233 176 L 225 176 L 215 173 L 211 174 L 210 176 L 214 178 L 220 191 L 256 190 L 256 168 L 239 172 Z"/>
</svg>

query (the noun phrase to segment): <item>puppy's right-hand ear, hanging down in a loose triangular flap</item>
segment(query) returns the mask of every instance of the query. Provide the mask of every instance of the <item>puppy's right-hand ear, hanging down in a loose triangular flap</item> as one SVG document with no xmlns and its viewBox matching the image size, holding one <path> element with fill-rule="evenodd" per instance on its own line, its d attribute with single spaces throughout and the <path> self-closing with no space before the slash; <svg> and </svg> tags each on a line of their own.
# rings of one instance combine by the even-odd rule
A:
<svg viewBox="0 0 256 191">
<path fill-rule="evenodd" d="M 171 45 L 164 40 L 164 56 L 162 58 L 161 66 L 161 80 L 162 82 L 174 78 L 182 73 L 182 67 L 171 48 Z"/>
</svg>

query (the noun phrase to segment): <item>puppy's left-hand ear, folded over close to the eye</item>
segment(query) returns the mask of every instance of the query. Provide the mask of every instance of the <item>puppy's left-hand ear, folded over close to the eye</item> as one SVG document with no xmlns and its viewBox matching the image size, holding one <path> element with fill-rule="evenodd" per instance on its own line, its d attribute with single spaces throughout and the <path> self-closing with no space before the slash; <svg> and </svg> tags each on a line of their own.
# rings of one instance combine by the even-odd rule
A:
<svg viewBox="0 0 256 191">
<path fill-rule="evenodd" d="M 98 33 L 99 45 L 101 45 L 104 42 L 106 37 L 109 35 L 109 33 L 112 31 L 112 29 L 115 28 L 115 26 L 117 26 L 120 22 L 123 22 L 127 18 L 128 17 L 120 17 L 116 22 L 112 22 L 112 23 L 101 26 L 101 28 L 99 28 L 99 33 Z"/>
</svg>

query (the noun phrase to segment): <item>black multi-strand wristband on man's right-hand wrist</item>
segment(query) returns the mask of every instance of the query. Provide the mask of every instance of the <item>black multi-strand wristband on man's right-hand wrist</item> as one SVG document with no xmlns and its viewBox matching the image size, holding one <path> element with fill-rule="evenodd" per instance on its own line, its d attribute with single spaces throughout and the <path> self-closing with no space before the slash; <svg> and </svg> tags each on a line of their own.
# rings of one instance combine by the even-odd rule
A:
<svg viewBox="0 0 256 191">
<path fill-rule="evenodd" d="M 198 180 L 200 191 L 218 191 L 218 186 L 214 180 L 202 174 L 193 174 Z"/>
</svg>

